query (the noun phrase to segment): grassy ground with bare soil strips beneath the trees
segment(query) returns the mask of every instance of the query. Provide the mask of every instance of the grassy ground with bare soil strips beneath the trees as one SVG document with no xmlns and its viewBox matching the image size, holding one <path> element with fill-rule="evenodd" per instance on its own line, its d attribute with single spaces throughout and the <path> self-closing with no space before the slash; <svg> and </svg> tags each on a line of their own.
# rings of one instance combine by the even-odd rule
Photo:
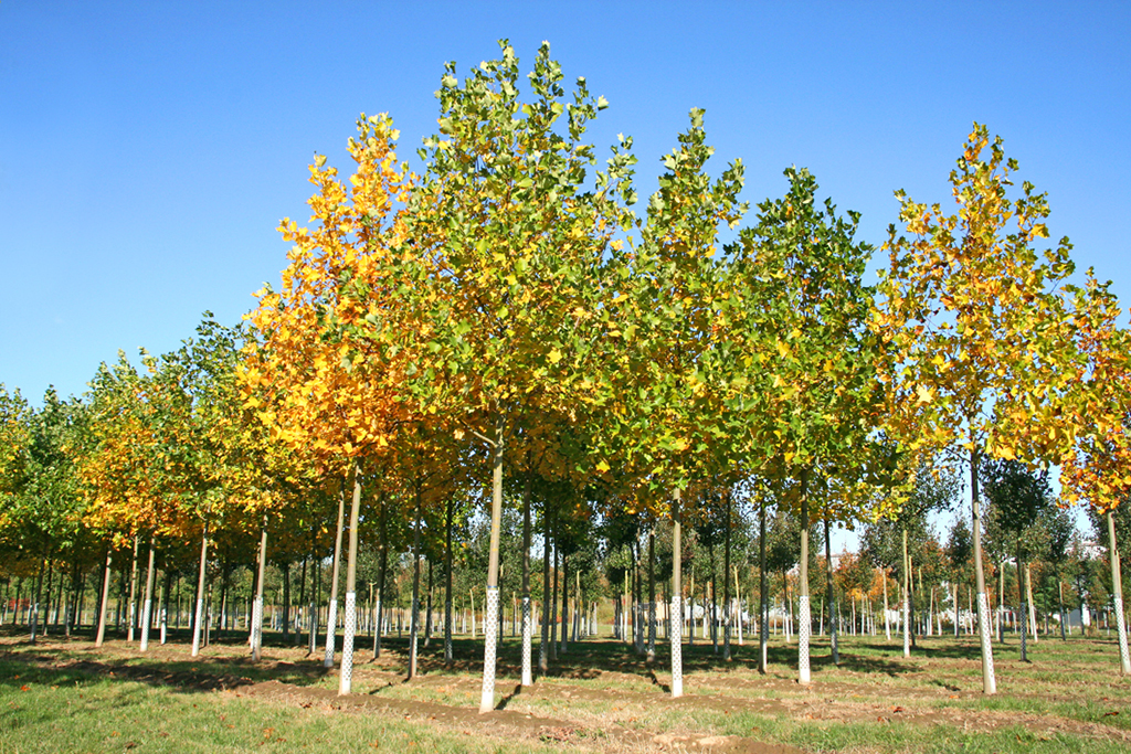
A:
<svg viewBox="0 0 1131 754">
<path fill-rule="evenodd" d="M 6 631 L 8 629 L 6 627 Z M 1030 662 L 1016 638 L 995 644 L 999 693 L 981 693 L 974 638 L 927 638 L 910 658 L 901 642 L 813 645 L 813 682 L 796 677 L 796 644 L 775 638 L 770 671 L 757 642 L 724 662 L 684 644 L 684 692 L 672 700 L 666 649 L 654 665 L 608 639 L 570 644 L 533 687 L 518 684 L 518 640 L 500 651 L 497 710 L 476 713 L 482 643 L 422 647 L 405 682 L 406 642 L 362 638 L 354 693 L 337 696 L 321 653 L 269 636 L 252 662 L 240 636 L 189 657 L 184 635 L 143 656 L 87 636 L 29 644 L 0 634 L 0 752 L 1128 752 L 1131 678 L 1114 638 L 1041 638 Z M 537 648 L 535 648 L 537 652 Z"/>
</svg>

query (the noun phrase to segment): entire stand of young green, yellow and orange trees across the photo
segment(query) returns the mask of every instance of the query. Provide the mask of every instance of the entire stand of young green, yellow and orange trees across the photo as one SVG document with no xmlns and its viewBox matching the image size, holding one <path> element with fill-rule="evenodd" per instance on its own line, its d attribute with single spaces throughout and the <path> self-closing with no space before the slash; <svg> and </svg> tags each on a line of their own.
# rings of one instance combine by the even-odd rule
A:
<svg viewBox="0 0 1131 754">
<path fill-rule="evenodd" d="M 1107 517 L 1131 671 L 1112 518 L 1131 485 L 1128 335 L 1106 285 L 1090 271 L 1072 283 L 1069 242 L 1044 242 L 1045 196 L 1028 182 L 1016 189 L 1000 138 L 975 124 L 950 175 L 956 214 L 897 193 L 904 229 L 891 227 L 889 269 L 869 286 L 873 249 L 856 239 L 858 215 L 818 201 L 808 171 L 787 170 L 786 193 L 744 224 L 742 163 L 709 175 L 703 112 L 693 110 L 638 211 L 631 138 L 619 137 L 599 168 L 585 141 L 604 98 L 584 78 L 567 96 L 549 45 L 524 98 L 513 50 L 501 51 L 463 81 L 447 67 L 420 174 L 398 159 L 386 115 L 359 120 L 348 183 L 316 157 L 312 225 L 280 224 L 294 244 L 290 266 L 245 326 L 209 315 L 179 350 L 144 354 L 140 371 L 124 356 L 104 365 L 83 400 L 49 393 L 31 410 L 0 393 L 6 545 L 41 571 L 52 556 L 67 553 L 81 570 L 77 553 L 101 553 L 105 595 L 123 545 L 143 543 L 153 562 L 158 543 L 199 543 L 196 653 L 209 546 L 258 538 L 257 656 L 268 552 L 317 563 L 333 549 L 331 624 L 345 565 L 348 693 L 360 543 L 375 541 L 381 563 L 405 544 L 418 572 L 423 548 L 441 541 L 450 573 L 459 527 L 480 510 L 486 711 L 504 508 L 521 521 L 524 684 L 533 683 L 536 528 L 543 541 L 567 541 L 596 523 L 655 531 L 666 522 L 663 586 L 667 613 L 680 616 L 684 525 L 717 519 L 729 556 L 740 500 L 759 519 L 770 508 L 797 521 L 805 684 L 810 525 L 917 517 L 921 491 L 962 467 L 983 688 L 993 693 L 983 487 L 1016 499 L 1000 504 L 1015 506 L 1002 526 L 1018 532 L 1024 562 L 1039 515 L 1031 487 L 1056 466 L 1061 502 Z M 766 574 L 762 553 L 758 564 Z M 378 603 L 387 572 L 378 569 Z M 731 579 L 723 583 L 727 592 Z M 670 623 L 673 695 L 681 626 Z"/>
</svg>

